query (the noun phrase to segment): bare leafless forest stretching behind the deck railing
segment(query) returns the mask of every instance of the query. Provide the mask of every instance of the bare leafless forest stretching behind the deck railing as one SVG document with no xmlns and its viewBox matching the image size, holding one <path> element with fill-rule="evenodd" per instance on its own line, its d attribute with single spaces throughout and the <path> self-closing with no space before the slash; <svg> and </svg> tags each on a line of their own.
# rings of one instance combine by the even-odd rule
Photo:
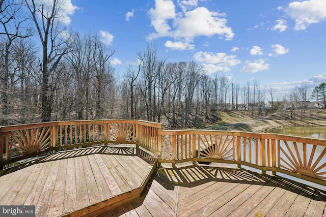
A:
<svg viewBox="0 0 326 217">
<path fill-rule="evenodd" d="M 144 44 L 118 79 L 110 64 L 115 50 L 96 35 L 68 32 L 60 22 L 59 0 L 50 7 L 38 3 L 0 0 L 2 126 L 143 119 L 182 129 L 216 122 L 220 110 L 249 110 L 252 116 L 291 112 L 300 119 L 309 108 L 325 107 L 326 85 L 313 91 L 298 87 L 281 99 L 256 80 L 207 75 L 195 61 L 158 56 L 154 42 Z"/>
</svg>

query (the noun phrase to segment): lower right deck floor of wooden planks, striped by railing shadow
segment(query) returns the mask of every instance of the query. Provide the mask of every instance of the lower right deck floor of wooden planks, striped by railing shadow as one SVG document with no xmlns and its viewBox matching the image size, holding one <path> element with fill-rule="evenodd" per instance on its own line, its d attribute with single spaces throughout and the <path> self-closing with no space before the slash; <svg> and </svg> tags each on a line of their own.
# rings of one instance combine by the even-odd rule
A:
<svg viewBox="0 0 326 217">
<path fill-rule="evenodd" d="M 159 168 L 140 199 L 104 216 L 326 216 L 326 192 L 280 176 L 194 165 Z"/>
</svg>

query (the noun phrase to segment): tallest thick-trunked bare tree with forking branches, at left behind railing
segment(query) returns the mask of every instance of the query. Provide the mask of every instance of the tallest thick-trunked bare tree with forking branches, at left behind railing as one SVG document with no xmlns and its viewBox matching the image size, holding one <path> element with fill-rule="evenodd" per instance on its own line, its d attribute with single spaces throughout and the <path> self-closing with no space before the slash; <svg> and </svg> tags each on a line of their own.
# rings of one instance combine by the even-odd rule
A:
<svg viewBox="0 0 326 217">
<path fill-rule="evenodd" d="M 31 12 L 37 34 L 42 44 L 42 60 L 40 63 L 42 71 L 41 89 L 41 116 L 42 122 L 51 120 L 51 84 L 49 83 L 51 73 L 56 72 L 62 57 L 70 49 L 68 39 L 63 37 L 64 26 L 60 22 L 60 6 L 63 5 L 59 0 L 51 2 L 41 2 L 36 0 L 25 0 L 26 6 Z"/>
</svg>

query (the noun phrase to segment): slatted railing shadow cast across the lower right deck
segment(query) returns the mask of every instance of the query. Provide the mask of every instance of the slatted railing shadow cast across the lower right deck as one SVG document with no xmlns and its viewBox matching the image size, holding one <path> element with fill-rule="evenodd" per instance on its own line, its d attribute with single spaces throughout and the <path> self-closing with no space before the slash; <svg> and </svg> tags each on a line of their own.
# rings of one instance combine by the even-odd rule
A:
<svg viewBox="0 0 326 217">
<path fill-rule="evenodd" d="M 281 176 L 263 175 L 246 169 L 191 165 L 181 168 L 159 168 L 156 180 L 167 190 L 177 185 L 187 188 L 216 181 L 282 188 L 318 201 L 326 201 L 326 191 Z"/>
</svg>

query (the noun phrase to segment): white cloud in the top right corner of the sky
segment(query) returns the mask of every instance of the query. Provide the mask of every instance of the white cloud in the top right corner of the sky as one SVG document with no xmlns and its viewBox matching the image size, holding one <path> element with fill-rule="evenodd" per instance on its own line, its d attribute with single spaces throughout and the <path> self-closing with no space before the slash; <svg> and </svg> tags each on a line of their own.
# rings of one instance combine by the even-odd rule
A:
<svg viewBox="0 0 326 217">
<path fill-rule="evenodd" d="M 285 9 L 288 16 L 295 21 L 295 30 L 305 30 L 310 24 L 326 19 L 326 1 L 308 0 L 292 2 Z"/>
</svg>

